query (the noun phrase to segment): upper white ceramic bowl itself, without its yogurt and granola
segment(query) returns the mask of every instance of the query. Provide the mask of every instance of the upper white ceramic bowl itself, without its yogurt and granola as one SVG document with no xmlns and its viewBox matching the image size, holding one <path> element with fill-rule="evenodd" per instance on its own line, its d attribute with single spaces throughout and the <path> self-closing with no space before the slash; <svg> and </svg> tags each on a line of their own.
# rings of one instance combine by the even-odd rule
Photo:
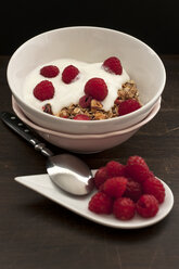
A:
<svg viewBox="0 0 179 269">
<path fill-rule="evenodd" d="M 85 62 L 103 62 L 118 56 L 135 79 L 143 106 L 128 115 L 104 120 L 72 120 L 40 112 L 23 100 L 25 77 L 38 65 L 68 57 Z M 38 35 L 22 44 L 8 66 L 12 93 L 26 116 L 35 124 L 66 133 L 104 133 L 125 129 L 141 121 L 161 97 L 166 80 L 158 55 L 139 39 L 120 31 L 100 27 L 67 27 Z"/>
</svg>

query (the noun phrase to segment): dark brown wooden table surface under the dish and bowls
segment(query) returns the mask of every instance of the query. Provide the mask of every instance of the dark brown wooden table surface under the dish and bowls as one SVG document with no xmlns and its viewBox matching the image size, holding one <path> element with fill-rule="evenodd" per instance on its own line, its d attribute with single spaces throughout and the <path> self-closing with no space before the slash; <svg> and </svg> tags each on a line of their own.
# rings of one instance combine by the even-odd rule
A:
<svg viewBox="0 0 179 269">
<path fill-rule="evenodd" d="M 175 205 L 161 222 L 120 230 L 97 225 L 18 184 L 43 174 L 44 158 L 0 124 L 0 269 L 176 269 L 179 264 L 179 55 L 161 55 L 167 72 L 162 107 L 130 140 L 79 155 L 91 168 L 141 155 L 172 190 Z M 0 56 L 1 111 L 12 111 Z M 55 152 L 63 152 L 51 145 Z"/>
</svg>

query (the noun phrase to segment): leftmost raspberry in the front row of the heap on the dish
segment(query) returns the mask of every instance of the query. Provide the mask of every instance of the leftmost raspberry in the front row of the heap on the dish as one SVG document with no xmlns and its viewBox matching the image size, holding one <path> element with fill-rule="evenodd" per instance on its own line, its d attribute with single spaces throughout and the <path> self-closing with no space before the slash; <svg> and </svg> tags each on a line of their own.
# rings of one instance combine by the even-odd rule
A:
<svg viewBox="0 0 179 269">
<path fill-rule="evenodd" d="M 98 192 L 91 197 L 88 208 L 97 214 L 111 214 L 113 209 L 113 200 L 105 193 Z"/>
</svg>

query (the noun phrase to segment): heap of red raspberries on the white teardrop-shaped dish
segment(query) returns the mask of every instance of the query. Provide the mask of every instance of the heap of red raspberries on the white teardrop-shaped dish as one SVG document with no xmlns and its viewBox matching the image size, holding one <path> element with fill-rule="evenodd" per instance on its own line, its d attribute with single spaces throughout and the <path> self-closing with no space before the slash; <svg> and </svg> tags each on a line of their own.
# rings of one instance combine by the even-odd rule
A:
<svg viewBox="0 0 179 269">
<path fill-rule="evenodd" d="M 88 208 L 95 214 L 113 214 L 119 220 L 154 217 L 165 200 L 165 188 L 141 156 L 130 156 L 126 165 L 111 161 L 94 175 L 98 192 Z"/>
</svg>

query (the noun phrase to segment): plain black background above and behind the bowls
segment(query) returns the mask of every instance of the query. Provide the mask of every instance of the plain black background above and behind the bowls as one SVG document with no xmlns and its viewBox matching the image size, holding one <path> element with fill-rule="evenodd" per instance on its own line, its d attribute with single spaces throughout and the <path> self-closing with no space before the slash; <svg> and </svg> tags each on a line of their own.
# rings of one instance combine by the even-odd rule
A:
<svg viewBox="0 0 179 269">
<path fill-rule="evenodd" d="M 1 1 L 0 54 L 11 55 L 27 39 L 66 26 L 125 31 L 157 53 L 179 53 L 178 0 Z"/>
</svg>

